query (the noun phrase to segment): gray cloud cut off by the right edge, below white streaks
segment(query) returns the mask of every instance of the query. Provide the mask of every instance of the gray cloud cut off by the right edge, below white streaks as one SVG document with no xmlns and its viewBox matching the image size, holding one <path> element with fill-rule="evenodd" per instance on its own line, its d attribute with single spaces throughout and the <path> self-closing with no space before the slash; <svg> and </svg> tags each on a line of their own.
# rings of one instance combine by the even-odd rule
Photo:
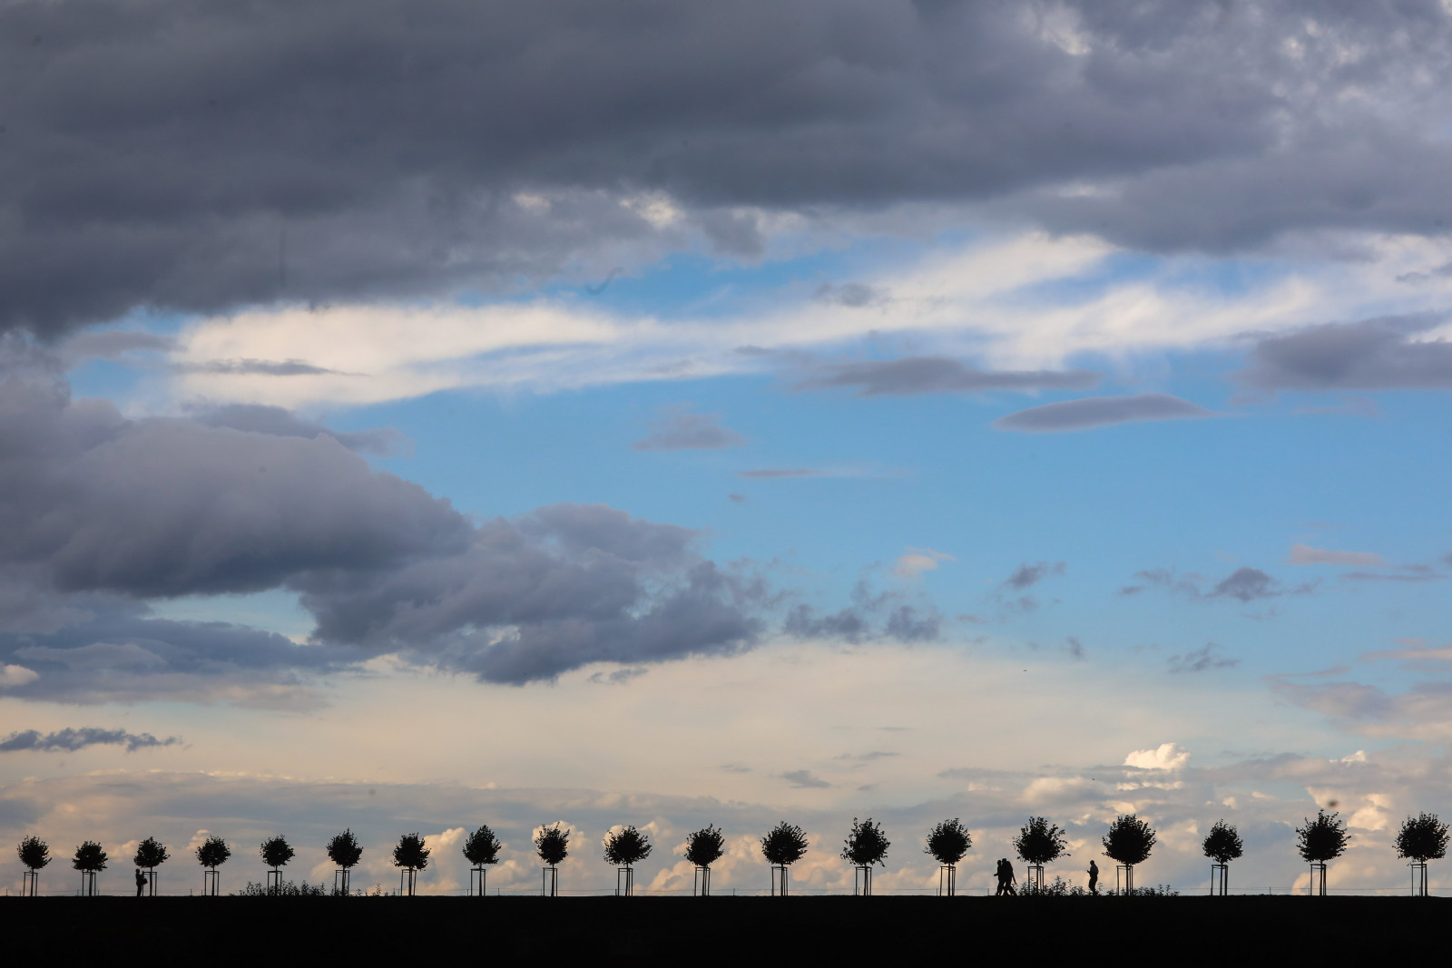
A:
<svg viewBox="0 0 1452 968">
<path fill-rule="evenodd" d="M 1381 316 L 1268 337 L 1237 379 L 1257 390 L 1449 390 L 1452 343 L 1419 340 L 1443 316 Z"/>
</svg>

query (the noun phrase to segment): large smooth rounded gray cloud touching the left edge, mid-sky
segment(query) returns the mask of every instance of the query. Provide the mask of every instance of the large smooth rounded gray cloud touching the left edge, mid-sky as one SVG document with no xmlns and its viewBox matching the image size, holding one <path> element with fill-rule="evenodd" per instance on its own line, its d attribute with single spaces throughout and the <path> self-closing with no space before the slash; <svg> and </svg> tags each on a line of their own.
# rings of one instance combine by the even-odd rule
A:
<svg viewBox="0 0 1452 968">
<path fill-rule="evenodd" d="M 0 562 L 60 591 L 248 592 L 319 569 L 459 551 L 447 501 L 322 434 L 126 419 L 64 385 L 0 374 Z"/>
</svg>

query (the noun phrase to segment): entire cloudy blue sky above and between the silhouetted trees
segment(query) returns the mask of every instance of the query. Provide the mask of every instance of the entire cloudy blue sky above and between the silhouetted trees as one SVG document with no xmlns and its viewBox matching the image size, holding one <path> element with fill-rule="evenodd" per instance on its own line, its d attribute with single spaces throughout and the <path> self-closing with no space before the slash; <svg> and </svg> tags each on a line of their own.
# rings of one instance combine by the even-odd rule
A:
<svg viewBox="0 0 1452 968">
<path fill-rule="evenodd" d="M 1407 885 L 1452 3 L 4 0 L 0 836 L 331 877 Z M 1452 874 L 1432 865 L 1433 888 Z M 0 884 L 22 868 L 0 858 Z"/>
</svg>

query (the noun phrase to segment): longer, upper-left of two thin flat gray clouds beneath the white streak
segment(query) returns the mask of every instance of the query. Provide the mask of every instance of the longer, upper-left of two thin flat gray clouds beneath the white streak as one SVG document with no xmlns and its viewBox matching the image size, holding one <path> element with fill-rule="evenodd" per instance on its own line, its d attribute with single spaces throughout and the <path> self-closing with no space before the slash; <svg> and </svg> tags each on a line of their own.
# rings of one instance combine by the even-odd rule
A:
<svg viewBox="0 0 1452 968">
<path fill-rule="evenodd" d="M 858 387 L 858 396 L 986 393 L 989 390 L 1088 390 L 1099 383 L 1089 370 L 977 370 L 945 357 L 903 357 L 835 363 L 816 369 L 799 390 Z"/>
</svg>

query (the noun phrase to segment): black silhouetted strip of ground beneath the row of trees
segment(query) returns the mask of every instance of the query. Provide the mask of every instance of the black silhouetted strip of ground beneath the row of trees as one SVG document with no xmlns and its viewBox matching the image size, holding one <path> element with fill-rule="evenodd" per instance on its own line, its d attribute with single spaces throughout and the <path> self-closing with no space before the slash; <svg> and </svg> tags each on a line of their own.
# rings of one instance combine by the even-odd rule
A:
<svg viewBox="0 0 1452 968">
<path fill-rule="evenodd" d="M 200 952 L 209 965 L 340 956 L 407 965 L 440 955 L 530 965 L 870 956 L 886 967 L 938 955 L 1003 965 L 1378 965 L 1445 953 L 1449 919 L 1452 898 L 1411 897 L 12 897 L 0 898 L 0 951 L 13 965 L 134 956 L 160 965 Z"/>
</svg>

